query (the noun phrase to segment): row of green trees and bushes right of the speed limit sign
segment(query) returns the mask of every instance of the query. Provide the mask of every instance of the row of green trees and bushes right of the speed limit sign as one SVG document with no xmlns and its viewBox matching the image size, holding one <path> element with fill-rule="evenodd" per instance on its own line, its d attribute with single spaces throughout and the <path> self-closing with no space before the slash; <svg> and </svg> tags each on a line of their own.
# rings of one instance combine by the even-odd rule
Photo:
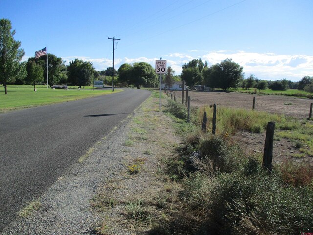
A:
<svg viewBox="0 0 313 235">
<path fill-rule="evenodd" d="M 201 59 L 193 59 L 182 66 L 181 80 L 184 80 L 189 87 L 202 85 L 211 90 L 216 88 L 229 90 L 230 88 L 265 90 L 267 88 L 276 91 L 287 89 L 298 89 L 313 93 L 313 77 L 305 76 L 299 82 L 292 82 L 286 79 L 277 81 L 260 80 L 255 75 L 250 74 L 245 78 L 243 67 L 232 61 L 225 59 L 220 63 L 208 66 L 208 63 Z"/>
</svg>

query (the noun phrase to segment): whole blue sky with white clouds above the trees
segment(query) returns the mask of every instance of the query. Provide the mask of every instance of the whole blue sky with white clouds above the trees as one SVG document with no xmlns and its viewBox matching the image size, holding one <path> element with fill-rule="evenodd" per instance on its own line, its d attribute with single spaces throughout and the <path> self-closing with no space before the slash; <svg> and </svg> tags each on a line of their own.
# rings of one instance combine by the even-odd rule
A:
<svg viewBox="0 0 313 235">
<path fill-rule="evenodd" d="M 245 77 L 299 81 L 313 76 L 313 0 L 0 0 L 23 60 L 47 46 L 68 64 L 96 70 L 167 60 L 176 74 L 196 58 L 231 58 Z"/>
</svg>

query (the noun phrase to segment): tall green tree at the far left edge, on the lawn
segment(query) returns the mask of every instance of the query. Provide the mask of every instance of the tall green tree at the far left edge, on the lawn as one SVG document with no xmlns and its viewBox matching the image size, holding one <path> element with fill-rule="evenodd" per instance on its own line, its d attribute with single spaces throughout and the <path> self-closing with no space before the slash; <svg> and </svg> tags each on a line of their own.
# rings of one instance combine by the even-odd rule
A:
<svg viewBox="0 0 313 235">
<path fill-rule="evenodd" d="M 4 94 L 7 94 L 7 83 L 14 81 L 19 73 L 19 61 L 25 52 L 20 41 L 15 41 L 11 21 L 2 18 L 0 20 L 0 82 L 4 85 Z"/>
</svg>

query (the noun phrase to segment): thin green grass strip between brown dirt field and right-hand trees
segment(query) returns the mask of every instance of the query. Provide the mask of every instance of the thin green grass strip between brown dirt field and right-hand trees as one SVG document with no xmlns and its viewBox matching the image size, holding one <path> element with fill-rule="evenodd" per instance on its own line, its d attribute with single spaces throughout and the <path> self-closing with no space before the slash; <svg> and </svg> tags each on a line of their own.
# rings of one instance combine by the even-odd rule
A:
<svg viewBox="0 0 313 235">
<path fill-rule="evenodd" d="M 255 93 L 255 94 L 267 94 L 267 95 L 288 95 L 288 96 L 298 96 L 298 97 L 307 97 L 310 98 L 313 96 L 313 94 L 306 92 L 306 91 L 300 91 L 297 89 L 288 89 L 286 91 L 273 91 L 271 89 L 265 89 L 265 90 L 255 90 L 255 88 L 250 88 L 248 90 L 238 88 L 238 89 L 231 89 L 232 92 L 243 92 L 243 93 Z"/>
</svg>

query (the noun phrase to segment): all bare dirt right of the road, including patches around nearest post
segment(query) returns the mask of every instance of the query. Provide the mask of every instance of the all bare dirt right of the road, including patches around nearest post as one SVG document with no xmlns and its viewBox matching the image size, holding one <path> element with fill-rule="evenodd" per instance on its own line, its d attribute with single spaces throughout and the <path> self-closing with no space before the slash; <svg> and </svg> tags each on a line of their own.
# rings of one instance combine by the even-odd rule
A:
<svg viewBox="0 0 313 235">
<path fill-rule="evenodd" d="M 176 91 L 177 101 L 181 100 L 181 91 Z M 257 95 L 237 92 L 197 92 L 190 91 L 191 106 L 203 106 L 217 104 L 217 106 L 227 106 L 234 108 L 252 109 L 253 97 L 256 97 L 255 110 L 267 111 L 270 113 L 285 114 L 295 118 L 308 118 L 310 103 L 312 99 L 298 98 L 283 95 Z M 242 144 L 247 154 L 263 155 L 265 132 L 251 133 L 238 131 L 233 138 Z M 296 153 L 300 153 L 295 148 L 295 143 L 288 139 L 274 141 L 273 163 L 282 162 L 284 159 L 292 158 Z M 313 164 L 312 156 L 305 156 L 301 159 L 292 158 L 294 161 L 307 161 Z"/>
</svg>

